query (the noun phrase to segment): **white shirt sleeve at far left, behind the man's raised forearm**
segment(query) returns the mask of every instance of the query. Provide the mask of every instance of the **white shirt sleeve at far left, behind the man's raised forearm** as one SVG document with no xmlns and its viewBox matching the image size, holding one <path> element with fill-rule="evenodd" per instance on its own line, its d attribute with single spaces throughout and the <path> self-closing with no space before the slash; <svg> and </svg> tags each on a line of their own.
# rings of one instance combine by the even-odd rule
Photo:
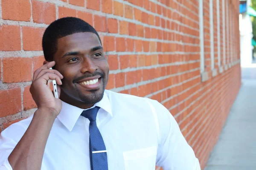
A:
<svg viewBox="0 0 256 170">
<path fill-rule="evenodd" d="M 26 127 L 20 122 L 7 127 L 0 135 L 0 170 L 12 170 L 8 157 L 12 153 L 21 137 L 26 132 Z"/>
</svg>

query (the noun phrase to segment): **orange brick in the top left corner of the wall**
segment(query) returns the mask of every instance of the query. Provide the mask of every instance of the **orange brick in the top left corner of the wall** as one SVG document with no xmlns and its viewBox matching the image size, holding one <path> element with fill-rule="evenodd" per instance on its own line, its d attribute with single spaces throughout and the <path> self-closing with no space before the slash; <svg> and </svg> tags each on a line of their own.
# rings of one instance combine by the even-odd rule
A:
<svg viewBox="0 0 256 170">
<path fill-rule="evenodd" d="M 3 20 L 30 21 L 29 0 L 2 0 Z"/>
</svg>

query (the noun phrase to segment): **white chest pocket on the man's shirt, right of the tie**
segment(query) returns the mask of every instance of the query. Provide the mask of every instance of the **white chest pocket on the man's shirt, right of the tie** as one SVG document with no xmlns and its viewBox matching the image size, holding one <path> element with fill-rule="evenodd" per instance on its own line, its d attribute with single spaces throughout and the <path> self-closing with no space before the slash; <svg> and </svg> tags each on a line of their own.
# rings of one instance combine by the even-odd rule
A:
<svg viewBox="0 0 256 170">
<path fill-rule="evenodd" d="M 157 147 L 123 152 L 125 170 L 155 170 Z"/>
</svg>

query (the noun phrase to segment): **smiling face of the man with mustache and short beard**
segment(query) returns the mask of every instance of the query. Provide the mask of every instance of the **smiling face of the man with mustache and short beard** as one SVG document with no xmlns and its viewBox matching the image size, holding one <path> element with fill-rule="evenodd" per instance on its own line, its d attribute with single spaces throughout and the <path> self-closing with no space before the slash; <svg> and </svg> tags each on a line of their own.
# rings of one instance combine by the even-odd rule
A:
<svg viewBox="0 0 256 170">
<path fill-rule="evenodd" d="M 102 99 L 109 66 L 96 34 L 81 32 L 58 39 L 54 61 L 64 77 L 60 99 L 79 108 Z"/>
</svg>

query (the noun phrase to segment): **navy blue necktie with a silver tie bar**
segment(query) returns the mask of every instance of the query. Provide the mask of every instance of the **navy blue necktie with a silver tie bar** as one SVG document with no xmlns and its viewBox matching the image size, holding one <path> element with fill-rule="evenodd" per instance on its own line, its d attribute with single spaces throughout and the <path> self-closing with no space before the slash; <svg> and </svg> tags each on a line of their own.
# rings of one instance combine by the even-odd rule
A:
<svg viewBox="0 0 256 170">
<path fill-rule="evenodd" d="M 99 107 L 91 108 L 83 111 L 81 116 L 90 120 L 89 133 L 90 133 L 90 167 L 91 170 L 108 170 L 107 150 L 103 138 L 96 125 L 96 116 Z"/>
</svg>

